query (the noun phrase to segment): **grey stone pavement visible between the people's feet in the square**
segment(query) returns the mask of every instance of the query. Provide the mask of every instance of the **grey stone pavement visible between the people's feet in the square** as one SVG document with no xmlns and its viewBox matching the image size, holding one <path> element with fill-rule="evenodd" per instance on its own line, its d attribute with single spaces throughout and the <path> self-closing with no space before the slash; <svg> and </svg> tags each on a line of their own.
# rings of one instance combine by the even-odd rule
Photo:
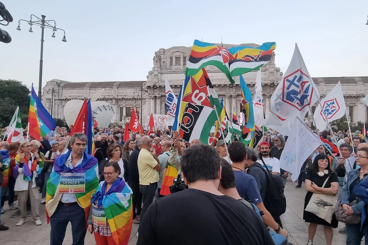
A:
<svg viewBox="0 0 368 245">
<path fill-rule="evenodd" d="M 303 205 L 305 197 L 305 185 L 300 189 L 295 189 L 296 183 L 288 181 L 286 183 L 285 195 L 287 200 L 286 213 L 281 216 L 284 228 L 289 232 L 289 242 L 294 245 L 305 245 L 308 240 L 308 224 L 302 220 L 303 218 Z M 40 214 L 43 224 L 36 226 L 31 219 L 22 226 L 15 226 L 20 220 L 20 217 L 11 218 L 11 214 L 14 210 L 7 209 L 7 202 L 5 203 L 4 209 L 6 212 L 1 214 L 1 221 L 9 226 L 8 231 L 0 231 L 0 244 L 2 245 L 48 245 L 50 244 L 50 226 L 46 223 L 46 214 L 44 205 L 40 205 Z M 344 224 L 339 223 L 339 228 L 343 227 Z M 131 239 L 129 244 L 136 244 L 138 225 L 133 224 Z M 346 244 L 346 234 L 340 234 L 339 228 L 333 229 L 333 245 Z M 69 224 L 63 245 L 70 245 L 72 243 L 71 237 L 71 226 Z M 94 236 L 87 233 L 85 238 L 86 245 L 95 244 Z M 314 238 L 315 245 L 326 244 L 323 227 L 318 226 L 317 234 Z M 363 244 L 363 243 L 362 243 Z"/>
</svg>

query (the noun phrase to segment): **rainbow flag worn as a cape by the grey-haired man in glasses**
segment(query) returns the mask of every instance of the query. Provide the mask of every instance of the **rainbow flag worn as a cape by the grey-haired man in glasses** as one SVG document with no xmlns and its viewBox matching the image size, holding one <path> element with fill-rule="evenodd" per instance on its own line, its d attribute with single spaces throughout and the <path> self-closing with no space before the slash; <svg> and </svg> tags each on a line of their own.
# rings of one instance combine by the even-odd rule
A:
<svg viewBox="0 0 368 245">
<path fill-rule="evenodd" d="M 49 180 L 46 184 L 46 205 L 49 200 L 54 198 L 56 189 L 60 184 L 60 174 L 72 173 L 80 174 L 84 173 L 86 175 L 85 192 L 75 193 L 80 205 L 84 208 L 86 213 L 86 218 L 88 218 L 89 207 L 91 206 L 91 196 L 98 186 L 98 166 L 97 159 L 86 152 L 83 154 L 82 163 L 75 168 L 70 168 L 65 165 L 68 160 L 72 150 L 68 150 L 66 154 L 57 156 L 54 161 L 54 167 L 50 174 Z M 46 210 L 47 223 L 49 223 L 50 217 Z"/>
</svg>

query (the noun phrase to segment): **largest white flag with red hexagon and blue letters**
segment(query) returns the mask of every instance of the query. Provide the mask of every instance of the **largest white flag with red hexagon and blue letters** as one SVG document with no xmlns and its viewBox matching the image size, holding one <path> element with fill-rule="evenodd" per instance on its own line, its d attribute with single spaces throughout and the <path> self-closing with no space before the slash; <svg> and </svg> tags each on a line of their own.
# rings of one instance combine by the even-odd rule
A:
<svg viewBox="0 0 368 245">
<path fill-rule="evenodd" d="M 309 106 L 313 105 L 319 98 L 319 92 L 309 75 L 307 67 L 295 44 L 295 50 L 289 67 L 287 68 L 282 81 L 277 85 L 270 99 L 270 113 L 279 117 L 280 121 L 289 121 L 292 123 L 295 117 L 304 118 L 309 110 Z M 274 125 L 272 117 L 268 117 L 266 127 L 273 128 L 278 132 L 282 126 Z"/>
</svg>

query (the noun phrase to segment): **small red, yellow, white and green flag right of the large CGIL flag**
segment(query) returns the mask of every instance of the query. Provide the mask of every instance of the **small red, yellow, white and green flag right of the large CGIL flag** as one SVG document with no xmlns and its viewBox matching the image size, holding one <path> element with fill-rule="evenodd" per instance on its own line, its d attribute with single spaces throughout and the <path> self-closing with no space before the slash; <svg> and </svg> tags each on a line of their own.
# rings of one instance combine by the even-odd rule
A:
<svg viewBox="0 0 368 245">
<path fill-rule="evenodd" d="M 234 138 L 233 128 L 231 128 L 230 120 L 226 113 L 223 98 L 221 99 L 221 107 L 221 113 L 219 114 L 220 122 L 219 120 L 216 120 L 215 136 L 213 136 L 212 141 L 213 146 L 216 146 L 217 141 L 219 141 L 220 139 L 223 139 L 226 143 L 230 144 L 231 140 Z"/>
</svg>

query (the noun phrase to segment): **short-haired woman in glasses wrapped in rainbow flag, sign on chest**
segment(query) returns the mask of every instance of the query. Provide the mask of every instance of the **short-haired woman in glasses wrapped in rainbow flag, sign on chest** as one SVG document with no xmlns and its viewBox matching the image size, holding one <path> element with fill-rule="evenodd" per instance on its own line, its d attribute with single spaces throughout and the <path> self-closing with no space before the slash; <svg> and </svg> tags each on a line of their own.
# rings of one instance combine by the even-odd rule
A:
<svg viewBox="0 0 368 245">
<path fill-rule="evenodd" d="M 116 161 L 106 163 L 100 182 L 91 198 L 88 231 L 97 245 L 126 245 L 132 230 L 132 190 L 123 178 Z"/>
</svg>

